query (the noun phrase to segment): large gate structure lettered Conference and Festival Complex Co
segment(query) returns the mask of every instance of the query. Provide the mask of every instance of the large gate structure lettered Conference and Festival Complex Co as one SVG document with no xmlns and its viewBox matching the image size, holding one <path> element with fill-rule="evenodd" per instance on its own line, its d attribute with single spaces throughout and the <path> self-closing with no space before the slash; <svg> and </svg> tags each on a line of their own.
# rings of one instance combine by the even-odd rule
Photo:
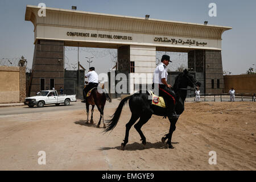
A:
<svg viewBox="0 0 256 182">
<path fill-rule="evenodd" d="M 118 49 L 117 71 L 127 75 L 129 93 L 135 73 L 154 73 L 156 51 L 187 52 L 189 70 L 203 82 L 201 92 L 224 89 L 221 36 L 231 27 L 51 7 L 40 17 L 39 10 L 27 5 L 25 15 L 35 32 L 31 93 L 40 89 L 40 78 L 46 78 L 46 86 L 54 78 L 55 89 L 64 87 L 64 46 Z"/>
</svg>

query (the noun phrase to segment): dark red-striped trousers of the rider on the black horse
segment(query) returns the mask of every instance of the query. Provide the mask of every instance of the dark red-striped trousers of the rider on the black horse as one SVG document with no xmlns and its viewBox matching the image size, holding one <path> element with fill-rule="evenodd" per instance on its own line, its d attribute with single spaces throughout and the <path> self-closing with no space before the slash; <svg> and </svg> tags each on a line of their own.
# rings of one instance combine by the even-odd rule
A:
<svg viewBox="0 0 256 182">
<path fill-rule="evenodd" d="M 154 88 L 154 84 L 152 85 Z M 163 97 L 164 102 L 166 103 L 166 107 L 168 107 L 168 111 L 174 112 L 175 104 L 176 104 L 176 94 L 171 88 L 168 88 L 166 85 L 159 84 L 159 96 Z"/>
</svg>

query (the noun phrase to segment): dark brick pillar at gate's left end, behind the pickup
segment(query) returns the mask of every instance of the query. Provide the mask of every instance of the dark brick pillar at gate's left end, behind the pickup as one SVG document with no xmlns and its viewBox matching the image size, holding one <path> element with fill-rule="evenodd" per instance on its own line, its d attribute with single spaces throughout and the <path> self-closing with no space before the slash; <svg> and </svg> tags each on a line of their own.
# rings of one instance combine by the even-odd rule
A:
<svg viewBox="0 0 256 182">
<path fill-rule="evenodd" d="M 32 64 L 30 96 L 40 90 L 40 78 L 45 79 L 45 89 L 50 89 L 50 79 L 55 80 L 55 90 L 64 88 L 64 42 L 38 40 L 35 44 Z"/>
</svg>

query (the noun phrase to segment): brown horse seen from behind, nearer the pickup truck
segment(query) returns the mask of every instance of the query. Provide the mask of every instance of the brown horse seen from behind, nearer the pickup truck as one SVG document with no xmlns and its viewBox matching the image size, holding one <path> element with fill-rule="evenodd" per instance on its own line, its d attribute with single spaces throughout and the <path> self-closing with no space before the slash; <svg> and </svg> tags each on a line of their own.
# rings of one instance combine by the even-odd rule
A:
<svg viewBox="0 0 256 182">
<path fill-rule="evenodd" d="M 85 85 L 86 86 L 86 85 Z M 104 85 L 102 85 L 102 88 L 93 88 L 90 92 L 90 96 L 86 97 L 86 114 L 87 114 L 87 120 L 86 122 L 88 123 L 89 121 L 89 105 L 92 105 L 92 115 L 90 117 L 90 123 L 93 123 L 93 109 L 94 106 L 96 105 L 98 108 L 98 111 L 100 111 L 100 121 L 98 121 L 97 127 L 100 127 L 101 124 L 101 118 L 103 121 L 103 127 L 105 128 L 105 122 L 104 122 L 104 106 L 106 104 L 106 100 L 111 102 L 111 98 L 109 97 L 109 94 L 104 92 Z"/>
</svg>

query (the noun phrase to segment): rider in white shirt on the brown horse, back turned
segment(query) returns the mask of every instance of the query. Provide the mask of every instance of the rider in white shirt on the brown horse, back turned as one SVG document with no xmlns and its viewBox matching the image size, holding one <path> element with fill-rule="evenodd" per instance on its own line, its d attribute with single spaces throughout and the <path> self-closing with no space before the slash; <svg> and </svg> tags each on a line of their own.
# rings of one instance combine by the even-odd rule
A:
<svg viewBox="0 0 256 182">
<path fill-rule="evenodd" d="M 88 78 L 88 85 L 85 86 L 84 90 L 82 90 L 82 94 L 84 96 L 84 100 L 81 102 L 86 102 L 86 94 L 90 89 L 98 86 L 98 74 L 95 72 L 94 67 L 90 67 L 88 73 L 85 75 L 85 78 Z"/>
</svg>

